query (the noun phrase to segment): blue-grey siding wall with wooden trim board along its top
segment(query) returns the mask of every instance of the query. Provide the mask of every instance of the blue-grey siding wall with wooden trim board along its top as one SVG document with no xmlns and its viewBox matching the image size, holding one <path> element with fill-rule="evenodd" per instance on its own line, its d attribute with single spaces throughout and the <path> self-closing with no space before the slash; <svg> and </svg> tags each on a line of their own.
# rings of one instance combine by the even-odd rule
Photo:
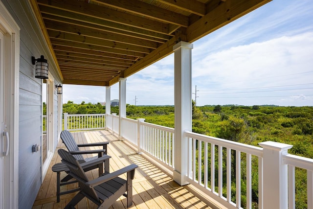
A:
<svg viewBox="0 0 313 209">
<path fill-rule="evenodd" d="M 19 208 L 29 209 L 42 182 L 41 152 L 32 152 L 32 145 L 41 144 L 42 80 L 35 78 L 31 57 L 44 55 L 55 82 L 61 83 L 41 30 L 27 0 L 1 0 L 21 28 L 20 33 L 20 120 L 19 120 Z M 57 97 L 54 96 L 54 114 Z M 54 144 L 57 144 L 58 117 L 54 116 Z"/>
</svg>

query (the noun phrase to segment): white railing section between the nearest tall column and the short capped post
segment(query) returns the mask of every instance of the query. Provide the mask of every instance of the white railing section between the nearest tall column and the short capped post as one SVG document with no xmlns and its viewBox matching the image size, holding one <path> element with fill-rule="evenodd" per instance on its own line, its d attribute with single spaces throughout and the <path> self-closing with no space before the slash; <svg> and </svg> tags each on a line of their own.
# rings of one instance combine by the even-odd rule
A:
<svg viewBox="0 0 313 209">
<path fill-rule="evenodd" d="M 258 167 L 258 203 L 263 209 L 263 148 L 242 144 L 225 139 L 208 137 L 193 132 L 185 132 L 188 137 L 188 174 L 186 181 L 201 191 L 218 200 L 227 208 L 252 207 L 252 157 Z M 246 157 L 246 163 L 241 160 Z M 234 163 L 234 164 L 233 164 Z M 235 165 L 235 169 L 232 170 Z M 245 167 L 245 171 L 242 168 Z M 242 178 L 242 173 L 246 173 Z M 217 174 L 217 175 L 216 175 Z M 235 181 L 232 181 L 232 177 Z M 208 181 L 210 180 L 210 181 Z M 242 193 L 242 182 L 245 181 L 246 194 Z M 232 195 L 232 184 L 235 182 L 236 191 Z M 234 186 L 234 185 L 233 185 Z M 232 198 L 233 196 L 233 198 Z M 242 204 L 242 196 L 246 203 Z M 232 201 L 235 199 L 235 201 Z"/>
</svg>

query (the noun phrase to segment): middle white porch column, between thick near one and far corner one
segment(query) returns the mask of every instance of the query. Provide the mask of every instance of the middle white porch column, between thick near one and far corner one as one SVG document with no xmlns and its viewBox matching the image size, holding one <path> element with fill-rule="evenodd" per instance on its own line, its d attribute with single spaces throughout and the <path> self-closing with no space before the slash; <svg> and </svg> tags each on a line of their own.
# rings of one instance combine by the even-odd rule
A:
<svg viewBox="0 0 313 209">
<path fill-rule="evenodd" d="M 126 117 L 126 78 L 119 79 L 118 137 L 122 139 L 122 117 Z"/>
</svg>

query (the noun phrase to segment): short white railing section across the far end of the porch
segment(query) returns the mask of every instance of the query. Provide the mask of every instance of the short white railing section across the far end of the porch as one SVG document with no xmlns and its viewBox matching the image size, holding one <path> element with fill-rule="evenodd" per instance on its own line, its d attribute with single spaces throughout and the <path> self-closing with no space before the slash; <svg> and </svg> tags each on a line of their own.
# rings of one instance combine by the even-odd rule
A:
<svg viewBox="0 0 313 209">
<path fill-rule="evenodd" d="M 105 129 L 105 114 L 74 114 L 64 113 L 64 130 L 87 131 Z"/>
</svg>

